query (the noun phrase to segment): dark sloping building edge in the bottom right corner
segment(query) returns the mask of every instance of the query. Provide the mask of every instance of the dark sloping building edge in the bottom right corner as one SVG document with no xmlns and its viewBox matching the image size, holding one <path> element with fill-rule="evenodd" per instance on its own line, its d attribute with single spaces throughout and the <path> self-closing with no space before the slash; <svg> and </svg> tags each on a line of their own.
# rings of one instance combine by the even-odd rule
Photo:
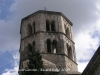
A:
<svg viewBox="0 0 100 75">
<path fill-rule="evenodd" d="M 82 75 L 100 75 L 100 46 L 84 69 Z"/>
</svg>

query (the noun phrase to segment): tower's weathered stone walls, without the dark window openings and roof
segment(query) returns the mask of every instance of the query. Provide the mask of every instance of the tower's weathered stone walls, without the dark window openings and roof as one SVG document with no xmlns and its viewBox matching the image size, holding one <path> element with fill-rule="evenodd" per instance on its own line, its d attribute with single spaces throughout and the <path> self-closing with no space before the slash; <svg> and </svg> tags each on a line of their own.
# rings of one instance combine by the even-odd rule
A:
<svg viewBox="0 0 100 75">
<path fill-rule="evenodd" d="M 56 31 L 46 31 L 46 20 L 55 22 Z M 35 22 L 35 33 L 33 23 Z M 28 35 L 28 25 L 32 27 L 32 34 Z M 68 30 L 68 34 L 66 33 Z M 33 45 L 39 50 L 43 59 L 46 59 L 59 68 L 70 68 L 77 71 L 76 54 L 73 42 L 72 25 L 62 15 L 53 13 L 36 13 L 22 20 L 21 25 L 20 61 L 28 59 L 28 45 Z M 58 53 L 47 52 L 47 39 L 57 41 Z M 69 58 L 68 47 L 71 47 L 72 58 Z M 25 63 L 25 62 L 24 62 Z"/>
</svg>

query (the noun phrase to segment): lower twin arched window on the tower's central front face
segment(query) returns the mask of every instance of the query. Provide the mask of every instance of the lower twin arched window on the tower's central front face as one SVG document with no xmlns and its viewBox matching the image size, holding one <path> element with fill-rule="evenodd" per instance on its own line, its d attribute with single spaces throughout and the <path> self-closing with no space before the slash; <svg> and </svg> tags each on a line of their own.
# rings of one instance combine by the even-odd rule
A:
<svg viewBox="0 0 100 75">
<path fill-rule="evenodd" d="M 47 39 L 47 52 L 57 53 L 57 41 L 56 40 L 53 40 L 53 42 L 51 42 L 50 39 Z"/>
</svg>

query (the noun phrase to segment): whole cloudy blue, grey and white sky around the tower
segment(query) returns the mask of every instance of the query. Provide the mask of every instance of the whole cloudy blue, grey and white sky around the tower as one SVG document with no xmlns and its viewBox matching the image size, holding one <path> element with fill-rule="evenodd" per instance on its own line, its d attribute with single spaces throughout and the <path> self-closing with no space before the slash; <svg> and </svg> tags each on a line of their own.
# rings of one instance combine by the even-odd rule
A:
<svg viewBox="0 0 100 75">
<path fill-rule="evenodd" d="M 88 64 L 100 44 L 100 0 L 0 0 L 0 75 L 18 75 L 21 19 L 44 7 L 70 19 L 79 72 Z"/>
</svg>

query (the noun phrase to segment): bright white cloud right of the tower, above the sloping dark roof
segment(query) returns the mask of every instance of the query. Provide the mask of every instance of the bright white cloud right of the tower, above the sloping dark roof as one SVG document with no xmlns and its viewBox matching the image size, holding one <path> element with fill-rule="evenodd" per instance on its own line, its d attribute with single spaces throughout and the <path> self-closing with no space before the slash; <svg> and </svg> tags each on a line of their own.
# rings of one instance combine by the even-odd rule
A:
<svg viewBox="0 0 100 75">
<path fill-rule="evenodd" d="M 96 11 L 99 11 L 97 3 L 95 6 L 97 8 Z M 100 44 L 100 18 L 98 18 L 95 22 L 90 22 L 86 25 L 87 26 L 82 25 L 83 29 L 75 35 L 75 46 L 78 61 L 89 61 Z"/>
</svg>

